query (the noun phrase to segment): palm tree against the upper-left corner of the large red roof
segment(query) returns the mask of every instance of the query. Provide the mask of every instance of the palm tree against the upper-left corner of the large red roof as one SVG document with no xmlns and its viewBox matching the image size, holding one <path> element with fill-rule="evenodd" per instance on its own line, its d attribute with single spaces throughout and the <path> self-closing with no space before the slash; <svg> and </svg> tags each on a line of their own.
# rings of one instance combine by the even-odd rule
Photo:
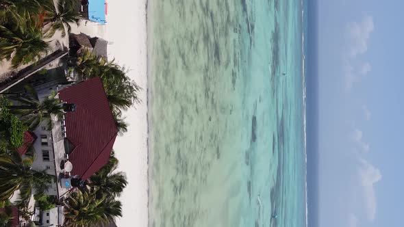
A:
<svg viewBox="0 0 404 227">
<path fill-rule="evenodd" d="M 42 121 L 46 121 L 48 123 L 48 129 L 51 129 L 51 114 L 58 116 L 58 118 L 62 118 L 63 114 L 62 103 L 59 98 L 55 98 L 56 92 L 51 92 L 51 94 L 41 102 L 34 88 L 30 85 L 25 85 L 25 90 L 27 90 L 31 96 L 10 97 L 10 99 L 21 103 L 21 105 L 11 105 L 8 108 L 12 113 L 17 114 L 31 131 L 36 129 Z"/>
</svg>

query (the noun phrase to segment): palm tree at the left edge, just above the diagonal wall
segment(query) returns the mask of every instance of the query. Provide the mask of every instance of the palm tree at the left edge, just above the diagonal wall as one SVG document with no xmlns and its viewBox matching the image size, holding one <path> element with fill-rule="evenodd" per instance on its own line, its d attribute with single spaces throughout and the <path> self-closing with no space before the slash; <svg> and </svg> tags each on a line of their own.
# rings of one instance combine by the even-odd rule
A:
<svg viewBox="0 0 404 227">
<path fill-rule="evenodd" d="M 0 60 L 10 60 L 12 68 L 35 62 L 49 50 L 49 42 L 37 23 L 28 16 L 21 25 L 0 25 Z"/>
</svg>

